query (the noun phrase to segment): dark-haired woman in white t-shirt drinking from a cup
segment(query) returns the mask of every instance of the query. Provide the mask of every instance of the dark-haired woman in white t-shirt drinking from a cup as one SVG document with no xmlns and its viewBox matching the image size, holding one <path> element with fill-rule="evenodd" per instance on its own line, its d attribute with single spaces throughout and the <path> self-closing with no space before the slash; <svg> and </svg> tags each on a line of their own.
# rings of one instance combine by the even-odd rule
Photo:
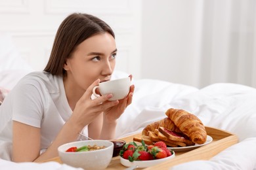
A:
<svg viewBox="0 0 256 170">
<path fill-rule="evenodd" d="M 114 38 L 108 24 L 89 14 L 71 14 L 62 22 L 44 71 L 22 78 L 0 107 L 0 146 L 12 150 L 0 158 L 53 158 L 58 146 L 76 141 L 86 126 L 93 139 L 114 138 L 117 118 L 131 104 L 135 87 L 119 101 L 108 101 L 112 94 L 91 99 L 93 87 L 114 71 Z"/>
</svg>

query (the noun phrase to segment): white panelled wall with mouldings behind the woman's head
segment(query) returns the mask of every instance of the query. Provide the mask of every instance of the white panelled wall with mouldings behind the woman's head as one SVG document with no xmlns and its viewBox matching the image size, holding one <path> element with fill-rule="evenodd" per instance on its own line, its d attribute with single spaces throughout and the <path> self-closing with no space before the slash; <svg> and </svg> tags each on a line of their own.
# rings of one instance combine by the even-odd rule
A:
<svg viewBox="0 0 256 170">
<path fill-rule="evenodd" d="M 140 3 L 136 0 L 0 0 L 0 31 L 11 33 L 22 58 L 39 71 L 49 59 L 62 20 L 72 12 L 93 14 L 116 33 L 116 69 L 140 78 Z"/>
</svg>

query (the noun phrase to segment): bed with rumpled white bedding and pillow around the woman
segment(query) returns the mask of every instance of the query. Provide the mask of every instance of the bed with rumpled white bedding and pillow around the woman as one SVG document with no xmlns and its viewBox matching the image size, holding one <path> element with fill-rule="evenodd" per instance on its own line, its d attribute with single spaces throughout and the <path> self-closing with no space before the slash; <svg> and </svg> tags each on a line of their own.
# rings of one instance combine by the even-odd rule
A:
<svg viewBox="0 0 256 170">
<path fill-rule="evenodd" d="M 33 71 L 18 55 L 9 39 L 10 37 L 0 35 L 0 99 L 8 95 L 9 90 L 22 76 Z M 115 71 L 113 78 L 127 75 Z M 226 148 L 211 160 L 190 161 L 175 165 L 171 169 L 256 169 L 255 88 L 218 83 L 198 89 L 156 79 L 133 79 L 133 84 L 133 103 L 118 120 L 116 138 L 140 133 L 146 125 L 165 118 L 165 111 L 169 108 L 184 109 L 198 116 L 205 126 L 236 134 L 239 143 Z M 13 163 L 1 159 L 0 167 L 74 169 L 56 162 Z"/>
</svg>

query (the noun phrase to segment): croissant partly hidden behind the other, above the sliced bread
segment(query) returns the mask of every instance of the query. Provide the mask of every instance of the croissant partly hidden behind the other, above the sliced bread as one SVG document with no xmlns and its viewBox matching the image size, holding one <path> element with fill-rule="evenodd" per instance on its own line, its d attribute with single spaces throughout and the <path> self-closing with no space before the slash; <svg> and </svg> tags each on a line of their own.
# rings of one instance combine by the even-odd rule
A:
<svg viewBox="0 0 256 170">
<path fill-rule="evenodd" d="M 164 118 L 158 122 L 153 122 L 152 124 L 148 124 L 143 130 L 142 135 L 148 135 L 148 131 L 154 131 L 159 127 L 165 127 L 171 131 L 181 132 L 177 126 L 171 121 L 169 118 Z"/>
</svg>

